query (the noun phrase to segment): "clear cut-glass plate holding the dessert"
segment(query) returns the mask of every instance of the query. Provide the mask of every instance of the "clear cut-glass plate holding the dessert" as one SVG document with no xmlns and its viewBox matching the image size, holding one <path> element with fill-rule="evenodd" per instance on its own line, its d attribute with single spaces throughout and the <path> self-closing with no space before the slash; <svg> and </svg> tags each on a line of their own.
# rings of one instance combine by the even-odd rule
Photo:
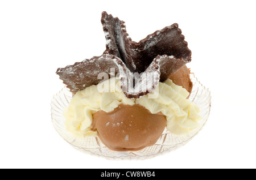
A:
<svg viewBox="0 0 256 180">
<path fill-rule="evenodd" d="M 65 128 L 65 118 L 63 117 L 63 109 L 68 107 L 69 101 L 72 98 L 72 93 L 69 92 L 66 87 L 53 96 L 51 102 L 52 125 L 65 141 L 71 144 L 73 148 L 84 153 L 90 153 L 91 155 L 105 157 L 108 159 L 152 158 L 156 155 L 173 151 L 188 143 L 189 140 L 191 140 L 201 130 L 205 125 L 205 122 L 207 122 L 210 113 L 210 91 L 208 88 L 205 88 L 193 74 L 191 74 L 191 80 L 193 83 L 193 89 L 189 96 L 189 100 L 194 102 L 200 108 L 200 115 L 203 117 L 199 122 L 200 126 L 189 132 L 187 135 L 171 134 L 165 129 L 162 136 L 160 136 L 154 145 L 146 147 L 140 151 L 113 151 L 102 144 L 101 140 L 97 136 L 86 137 L 84 139 L 72 136 Z"/>
</svg>

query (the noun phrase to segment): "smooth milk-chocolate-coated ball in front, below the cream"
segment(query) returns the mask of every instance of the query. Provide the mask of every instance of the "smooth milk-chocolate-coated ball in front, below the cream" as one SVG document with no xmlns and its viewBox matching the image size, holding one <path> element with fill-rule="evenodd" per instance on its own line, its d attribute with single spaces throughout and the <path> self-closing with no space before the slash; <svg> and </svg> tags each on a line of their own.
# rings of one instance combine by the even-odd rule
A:
<svg viewBox="0 0 256 180">
<path fill-rule="evenodd" d="M 93 114 L 93 130 L 114 151 L 138 151 L 154 145 L 166 127 L 162 113 L 151 114 L 141 105 L 119 105 L 112 112 Z"/>
</svg>

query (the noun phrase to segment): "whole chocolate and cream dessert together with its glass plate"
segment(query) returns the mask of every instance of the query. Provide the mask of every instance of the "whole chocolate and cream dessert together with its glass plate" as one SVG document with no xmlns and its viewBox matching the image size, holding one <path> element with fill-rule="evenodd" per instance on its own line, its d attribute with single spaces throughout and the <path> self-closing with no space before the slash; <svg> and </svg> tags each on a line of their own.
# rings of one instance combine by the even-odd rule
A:
<svg viewBox="0 0 256 180">
<path fill-rule="evenodd" d="M 134 42 L 125 22 L 102 12 L 106 50 L 58 68 L 65 87 L 52 123 L 74 148 L 107 158 L 150 158 L 187 143 L 204 126 L 210 92 L 187 68 L 178 24 Z"/>
</svg>

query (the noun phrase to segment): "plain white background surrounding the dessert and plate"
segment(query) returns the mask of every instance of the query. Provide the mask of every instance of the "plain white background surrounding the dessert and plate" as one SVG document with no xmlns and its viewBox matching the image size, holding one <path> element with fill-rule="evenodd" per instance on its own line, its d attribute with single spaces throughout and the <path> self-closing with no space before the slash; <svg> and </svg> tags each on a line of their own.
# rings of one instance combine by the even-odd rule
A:
<svg viewBox="0 0 256 180">
<path fill-rule="evenodd" d="M 0 1 L 0 168 L 256 168 L 254 1 Z M 72 148 L 51 124 L 58 67 L 101 55 L 107 11 L 133 41 L 178 23 L 188 67 L 212 95 L 188 144 L 148 160 L 106 160 Z"/>
</svg>

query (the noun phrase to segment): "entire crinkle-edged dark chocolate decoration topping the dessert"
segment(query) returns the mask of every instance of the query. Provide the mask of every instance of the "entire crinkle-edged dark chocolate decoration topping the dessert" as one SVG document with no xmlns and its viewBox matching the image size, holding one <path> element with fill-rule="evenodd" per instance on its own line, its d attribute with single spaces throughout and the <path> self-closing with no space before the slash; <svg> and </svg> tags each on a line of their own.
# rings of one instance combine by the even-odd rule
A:
<svg viewBox="0 0 256 180">
<path fill-rule="evenodd" d="M 125 22 L 102 12 L 101 23 L 106 38 L 104 53 L 57 69 L 56 73 L 72 93 L 100 83 L 98 75 L 103 72 L 108 78 L 119 75 L 127 98 L 140 98 L 191 61 L 191 51 L 177 24 L 134 42 L 126 32 Z"/>
</svg>

